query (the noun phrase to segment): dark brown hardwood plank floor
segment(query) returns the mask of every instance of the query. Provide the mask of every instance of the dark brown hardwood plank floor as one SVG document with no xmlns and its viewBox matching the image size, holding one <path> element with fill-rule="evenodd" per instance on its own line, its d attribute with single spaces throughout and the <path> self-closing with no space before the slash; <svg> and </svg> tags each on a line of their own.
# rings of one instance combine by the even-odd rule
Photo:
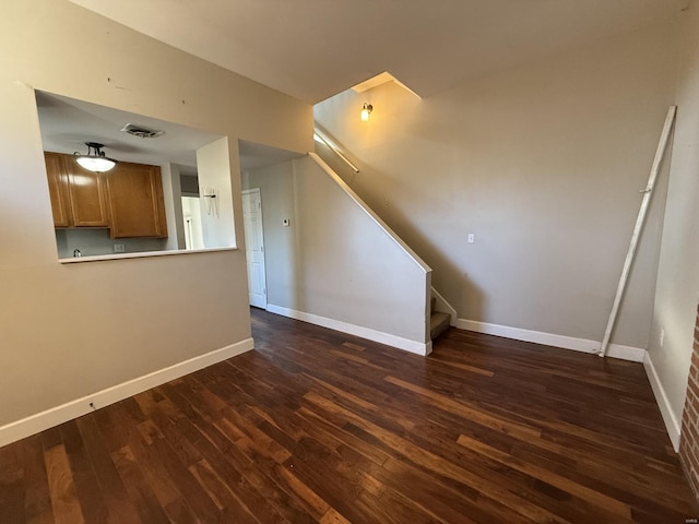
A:
<svg viewBox="0 0 699 524">
<path fill-rule="evenodd" d="M 640 364 L 252 311 L 257 349 L 0 449 L 5 523 L 685 523 Z"/>
</svg>

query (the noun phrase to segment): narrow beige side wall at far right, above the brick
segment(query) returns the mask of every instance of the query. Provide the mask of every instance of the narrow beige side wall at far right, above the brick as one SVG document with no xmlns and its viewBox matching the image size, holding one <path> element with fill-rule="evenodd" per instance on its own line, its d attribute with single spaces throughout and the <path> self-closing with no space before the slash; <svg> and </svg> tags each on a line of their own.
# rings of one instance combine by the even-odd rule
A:
<svg viewBox="0 0 699 524">
<path fill-rule="evenodd" d="M 649 354 L 679 431 L 699 300 L 699 5 L 685 15 L 677 52 L 677 122 Z M 663 346 L 660 332 L 664 330 Z M 661 395 L 662 396 L 662 395 Z M 662 397 L 661 397 L 661 402 Z M 666 416 L 666 422 L 667 422 Z"/>
</svg>

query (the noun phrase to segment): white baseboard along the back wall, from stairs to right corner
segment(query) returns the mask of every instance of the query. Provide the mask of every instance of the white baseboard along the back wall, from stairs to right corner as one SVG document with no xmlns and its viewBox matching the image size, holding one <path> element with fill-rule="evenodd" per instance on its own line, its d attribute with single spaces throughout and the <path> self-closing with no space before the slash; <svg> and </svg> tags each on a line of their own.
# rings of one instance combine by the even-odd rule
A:
<svg viewBox="0 0 699 524">
<path fill-rule="evenodd" d="M 475 320 L 458 319 L 455 326 L 461 330 L 475 331 L 477 333 L 513 338 L 516 341 L 534 342 L 536 344 L 562 347 L 564 349 L 573 349 L 576 352 L 583 353 L 597 353 L 602 344 L 601 342 L 590 341 L 588 338 L 576 338 L 572 336 L 544 333 L 541 331 L 510 327 L 508 325 L 488 324 L 486 322 L 477 322 Z M 621 344 L 609 344 L 607 347 L 607 356 L 620 358 L 623 360 L 630 360 L 632 362 L 642 362 L 645 356 L 645 349 L 641 347 L 624 346 Z"/>
</svg>

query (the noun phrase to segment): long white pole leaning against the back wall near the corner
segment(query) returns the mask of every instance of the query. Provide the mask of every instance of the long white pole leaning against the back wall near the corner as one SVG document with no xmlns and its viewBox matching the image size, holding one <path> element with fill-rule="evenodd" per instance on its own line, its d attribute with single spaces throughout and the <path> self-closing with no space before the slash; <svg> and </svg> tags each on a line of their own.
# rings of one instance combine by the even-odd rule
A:
<svg viewBox="0 0 699 524">
<path fill-rule="evenodd" d="M 643 227 L 643 222 L 645 221 L 645 213 L 648 212 L 648 206 L 651 202 L 651 195 L 653 194 L 653 186 L 655 186 L 655 179 L 657 178 L 657 172 L 660 171 L 660 165 L 663 160 L 665 148 L 667 147 L 670 131 L 673 128 L 676 111 L 677 106 L 670 106 L 670 109 L 667 110 L 667 117 L 665 118 L 665 126 L 663 127 L 663 133 L 660 136 L 657 150 L 655 151 L 655 158 L 653 159 L 653 166 L 651 167 L 651 176 L 648 179 L 648 186 L 645 187 L 645 189 L 641 190 L 641 192 L 644 193 L 643 201 L 641 202 L 641 209 L 638 212 L 636 227 L 633 227 L 633 235 L 631 236 L 629 251 L 628 253 L 626 253 L 624 269 L 621 270 L 621 277 L 619 278 L 619 285 L 616 288 L 616 296 L 614 297 L 614 305 L 612 306 L 612 312 L 609 313 L 607 327 L 604 331 L 604 338 L 602 338 L 602 346 L 600 347 L 601 357 L 604 357 L 607 350 L 607 346 L 609 345 L 612 330 L 614 329 L 614 324 L 616 322 L 616 315 L 619 312 L 619 305 L 621 303 L 621 297 L 624 296 L 624 290 L 626 289 L 626 282 L 629 277 L 629 272 L 631 271 L 633 255 L 636 254 L 636 247 L 638 246 L 638 241 L 641 236 L 641 229 Z"/>
</svg>

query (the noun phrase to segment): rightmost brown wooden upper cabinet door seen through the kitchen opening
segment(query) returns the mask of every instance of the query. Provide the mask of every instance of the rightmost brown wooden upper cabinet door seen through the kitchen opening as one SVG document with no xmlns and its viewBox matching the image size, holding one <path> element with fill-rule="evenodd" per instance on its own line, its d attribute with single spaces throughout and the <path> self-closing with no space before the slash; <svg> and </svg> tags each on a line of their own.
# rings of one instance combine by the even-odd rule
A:
<svg viewBox="0 0 699 524">
<path fill-rule="evenodd" d="M 120 162 L 105 174 L 111 237 L 167 237 L 161 169 Z"/>
</svg>

